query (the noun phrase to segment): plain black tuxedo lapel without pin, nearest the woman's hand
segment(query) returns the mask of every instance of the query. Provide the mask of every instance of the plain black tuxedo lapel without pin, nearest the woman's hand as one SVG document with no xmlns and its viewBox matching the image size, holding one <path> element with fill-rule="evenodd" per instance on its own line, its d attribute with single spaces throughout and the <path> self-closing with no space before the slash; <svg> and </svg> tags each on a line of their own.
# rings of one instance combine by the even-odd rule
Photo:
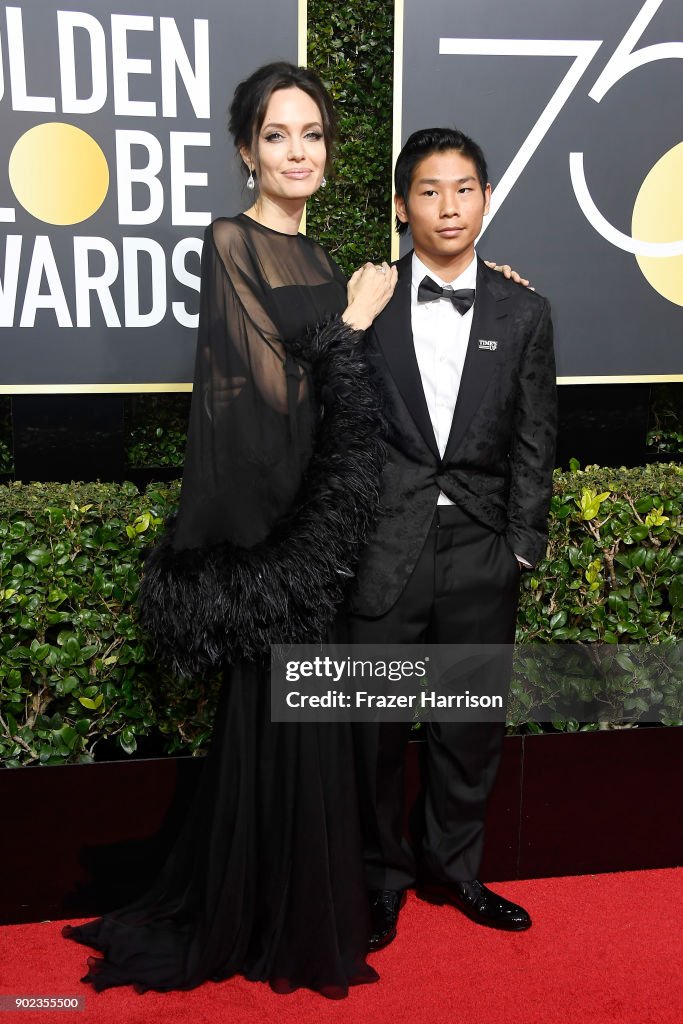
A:
<svg viewBox="0 0 683 1024">
<path fill-rule="evenodd" d="M 386 309 L 375 321 L 375 337 L 420 433 L 434 455 L 440 459 L 413 343 L 411 322 L 413 253 L 410 252 L 398 260 L 396 268 L 398 270 L 396 290 Z"/>
</svg>

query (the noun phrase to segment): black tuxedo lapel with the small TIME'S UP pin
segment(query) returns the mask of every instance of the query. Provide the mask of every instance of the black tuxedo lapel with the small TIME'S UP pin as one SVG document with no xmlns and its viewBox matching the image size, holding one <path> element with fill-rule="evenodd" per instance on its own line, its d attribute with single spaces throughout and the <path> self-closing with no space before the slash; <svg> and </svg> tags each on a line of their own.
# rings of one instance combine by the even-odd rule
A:
<svg viewBox="0 0 683 1024">
<path fill-rule="evenodd" d="M 499 274 L 477 258 L 476 299 L 472 328 L 465 355 L 458 401 L 451 424 L 444 460 L 460 444 L 470 421 L 481 403 L 483 393 L 501 357 L 499 346 L 504 341 L 508 316 L 508 295 L 501 287 Z M 496 348 L 482 342 L 496 342 Z"/>
</svg>

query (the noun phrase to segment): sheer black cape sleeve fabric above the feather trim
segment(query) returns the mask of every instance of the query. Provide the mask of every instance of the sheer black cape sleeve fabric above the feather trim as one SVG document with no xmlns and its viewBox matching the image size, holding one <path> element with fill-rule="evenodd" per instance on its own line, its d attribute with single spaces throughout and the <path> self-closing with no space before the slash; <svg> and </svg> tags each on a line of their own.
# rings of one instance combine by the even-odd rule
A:
<svg viewBox="0 0 683 1024">
<path fill-rule="evenodd" d="M 273 321 L 271 291 L 239 228 L 212 225 L 176 550 L 225 540 L 251 547 L 297 493 L 313 409 L 307 375 L 288 359 Z"/>
</svg>

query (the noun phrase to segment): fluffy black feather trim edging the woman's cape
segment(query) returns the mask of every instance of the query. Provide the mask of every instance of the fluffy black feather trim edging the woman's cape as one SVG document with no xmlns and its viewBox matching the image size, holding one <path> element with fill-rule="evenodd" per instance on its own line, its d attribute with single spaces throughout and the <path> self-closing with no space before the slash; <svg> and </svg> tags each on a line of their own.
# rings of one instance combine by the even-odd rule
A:
<svg viewBox="0 0 683 1024">
<path fill-rule="evenodd" d="M 173 520 L 144 563 L 140 622 L 181 676 L 325 638 L 379 508 L 384 422 L 359 334 L 339 317 L 296 348 L 322 406 L 292 512 L 253 548 L 174 551 Z"/>
</svg>

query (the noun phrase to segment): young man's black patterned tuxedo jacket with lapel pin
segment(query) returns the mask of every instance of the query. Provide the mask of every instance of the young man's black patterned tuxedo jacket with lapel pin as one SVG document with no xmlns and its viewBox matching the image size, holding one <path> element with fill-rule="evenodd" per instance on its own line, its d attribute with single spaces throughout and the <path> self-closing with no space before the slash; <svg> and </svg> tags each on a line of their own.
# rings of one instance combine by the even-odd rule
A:
<svg viewBox="0 0 683 1024">
<path fill-rule="evenodd" d="M 555 359 L 547 299 L 482 260 L 458 401 L 439 455 L 415 355 L 412 252 L 367 335 L 385 395 L 388 462 L 378 525 L 357 570 L 351 611 L 381 615 L 399 597 L 442 490 L 531 564 L 544 553 L 555 458 Z M 485 344 L 482 344 L 485 342 Z"/>
</svg>

